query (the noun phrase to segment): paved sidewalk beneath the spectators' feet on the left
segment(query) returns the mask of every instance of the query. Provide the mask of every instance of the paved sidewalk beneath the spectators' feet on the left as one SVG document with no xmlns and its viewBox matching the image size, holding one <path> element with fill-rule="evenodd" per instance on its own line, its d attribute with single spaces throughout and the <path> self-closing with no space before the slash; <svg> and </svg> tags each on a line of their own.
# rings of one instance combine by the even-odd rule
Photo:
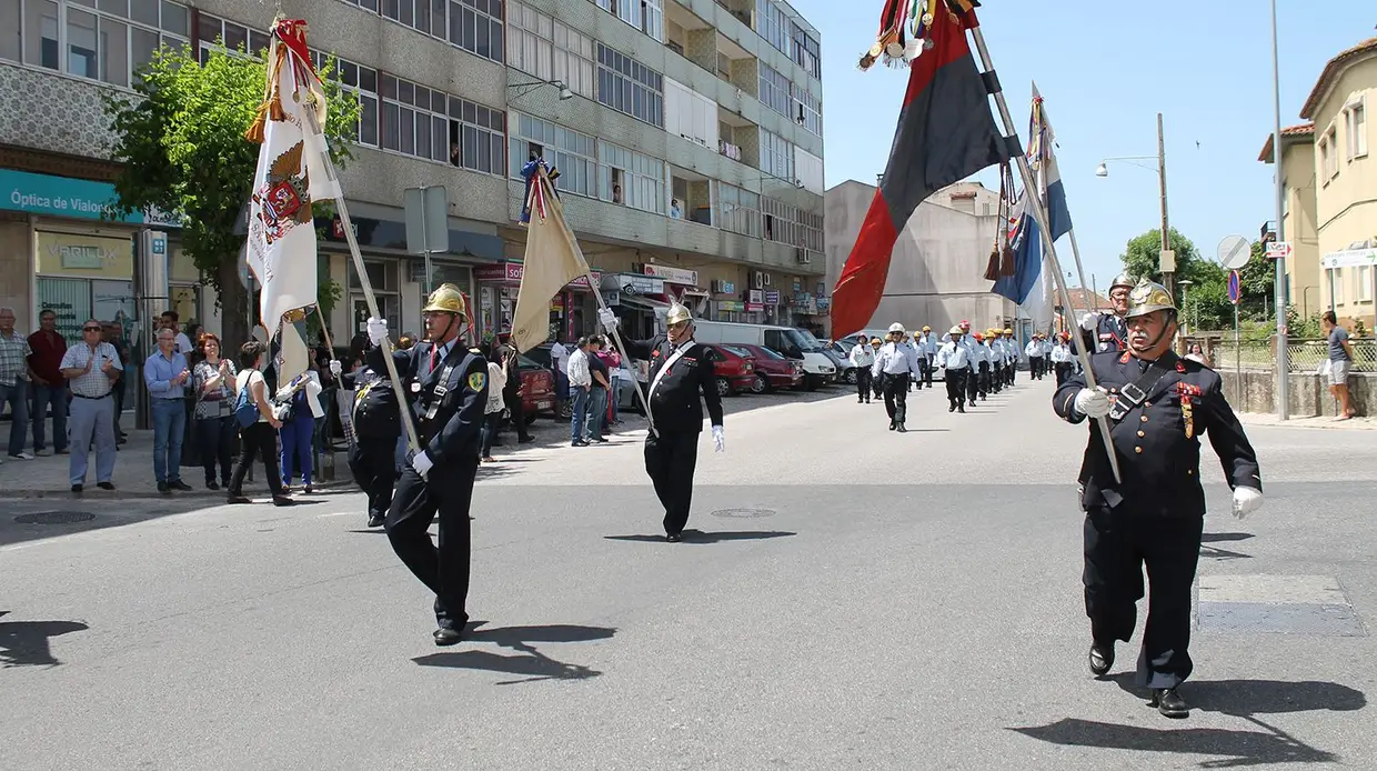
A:
<svg viewBox="0 0 1377 771">
<path fill-rule="evenodd" d="M 10 425 L 6 424 L 4 434 L 8 436 Z M 3 445 L 0 445 L 3 446 Z M 48 447 L 51 452 L 51 446 Z M 32 446 L 25 449 L 26 453 L 33 454 Z M 3 454 L 3 453 L 0 453 Z M 321 465 L 315 471 L 315 478 L 318 482 L 314 483 L 319 489 L 336 489 L 347 487 L 354 483 L 354 478 L 348 471 L 348 463 L 346 458 L 347 453 L 333 453 L 333 479 L 329 475 L 330 468 L 330 453 L 321 453 Z M 45 457 L 36 457 L 33 460 L 18 460 L 4 456 L 4 464 L 0 464 L 0 500 L 8 498 L 51 498 L 51 497 L 73 497 L 72 480 L 69 476 L 69 463 L 70 456 L 51 454 Z M 324 472 L 324 474 L 322 474 Z M 267 490 L 263 485 L 263 464 L 255 463 L 251 476 L 255 482 L 245 483 L 246 494 L 252 496 L 266 496 Z M 129 431 L 128 442 L 120 445 L 120 452 L 114 460 L 114 490 L 107 492 L 95 486 L 95 453 L 90 456 L 90 467 L 87 468 L 87 482 L 85 490 L 80 493 L 83 500 L 99 501 L 99 500 L 127 500 L 127 498 L 205 498 L 207 503 L 213 500 L 223 501 L 226 492 L 220 490 L 207 490 L 205 489 L 205 472 L 200 465 L 182 465 L 182 480 L 193 487 L 191 492 L 180 493 L 174 492 L 171 496 L 164 496 L 158 493 L 157 479 L 153 478 L 153 431 Z M 299 485 L 299 482 L 297 482 Z"/>
</svg>

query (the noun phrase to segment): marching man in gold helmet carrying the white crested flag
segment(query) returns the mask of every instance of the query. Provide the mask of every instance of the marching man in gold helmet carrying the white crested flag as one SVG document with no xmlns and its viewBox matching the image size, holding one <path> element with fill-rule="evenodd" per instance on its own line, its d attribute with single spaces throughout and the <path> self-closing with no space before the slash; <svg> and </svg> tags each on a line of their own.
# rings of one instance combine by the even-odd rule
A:
<svg viewBox="0 0 1377 771">
<path fill-rule="evenodd" d="M 464 639 L 468 622 L 468 507 L 478 474 L 478 430 L 487 403 L 487 362 L 465 346 L 470 325 L 464 295 L 453 284 L 431 293 L 421 308 L 425 341 L 392 351 L 420 449 L 408 453 L 384 527 L 392 551 L 435 593 L 437 646 Z M 387 321 L 368 319 L 373 347 L 365 362 L 387 372 L 381 343 Z M 427 530 L 439 516 L 438 548 Z"/>
</svg>

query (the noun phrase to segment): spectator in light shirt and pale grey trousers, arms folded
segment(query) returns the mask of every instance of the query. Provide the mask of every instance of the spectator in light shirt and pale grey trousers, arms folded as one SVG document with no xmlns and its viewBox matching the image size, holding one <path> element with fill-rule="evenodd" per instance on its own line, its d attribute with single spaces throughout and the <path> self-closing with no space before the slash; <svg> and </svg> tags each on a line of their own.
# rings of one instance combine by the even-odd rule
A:
<svg viewBox="0 0 1377 771">
<path fill-rule="evenodd" d="M 72 412 L 67 416 L 72 460 L 67 476 L 72 492 L 85 485 L 87 454 L 95 445 L 95 486 L 113 490 L 114 483 L 114 399 L 110 391 L 124 372 L 114 346 L 101 340 L 101 322 L 81 325 L 81 344 L 72 346 L 62 357 L 62 376 L 72 388 Z"/>
</svg>

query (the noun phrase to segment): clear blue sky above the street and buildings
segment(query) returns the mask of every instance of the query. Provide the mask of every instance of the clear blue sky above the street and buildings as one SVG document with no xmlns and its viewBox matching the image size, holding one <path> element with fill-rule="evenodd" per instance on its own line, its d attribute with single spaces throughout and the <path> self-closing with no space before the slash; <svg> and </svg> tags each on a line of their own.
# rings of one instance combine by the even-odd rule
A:
<svg viewBox="0 0 1377 771">
<path fill-rule="evenodd" d="M 873 184 L 907 77 L 883 65 L 866 73 L 855 66 L 874 41 L 883 1 L 792 4 L 822 33 L 826 184 Z M 1377 1 L 1278 0 L 1278 15 L 1282 125 L 1290 125 L 1301 123 L 1300 107 L 1325 62 L 1377 34 Z M 1272 131 L 1267 0 L 986 0 L 979 18 L 1024 143 L 1030 81 L 1047 101 L 1081 256 L 1102 292 L 1125 242 L 1158 227 L 1161 209 L 1155 172 L 1111 162 L 1102 179 L 1095 167 L 1110 156 L 1155 156 L 1158 112 L 1173 229 L 1213 257 L 1226 235 L 1257 238 L 1274 219 L 1272 167 L 1257 161 Z M 998 186 L 997 173 L 979 179 Z M 1058 253 L 1063 270 L 1074 270 L 1067 240 Z M 983 257 L 979 263 L 971 270 L 983 271 Z"/>
</svg>

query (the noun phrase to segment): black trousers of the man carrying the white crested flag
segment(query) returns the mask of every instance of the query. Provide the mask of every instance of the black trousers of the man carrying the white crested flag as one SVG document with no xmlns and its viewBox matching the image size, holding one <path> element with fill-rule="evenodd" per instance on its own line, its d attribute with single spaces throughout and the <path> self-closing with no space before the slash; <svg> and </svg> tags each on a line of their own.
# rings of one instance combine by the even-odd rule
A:
<svg viewBox="0 0 1377 771">
<path fill-rule="evenodd" d="M 392 505 L 387 509 L 387 540 L 402 563 L 435 592 L 435 622 L 460 631 L 468 624 L 470 522 L 478 456 L 459 458 L 430 469 L 421 479 L 410 464 L 397 478 Z M 430 526 L 439 516 L 439 538 L 432 544 Z"/>
</svg>

